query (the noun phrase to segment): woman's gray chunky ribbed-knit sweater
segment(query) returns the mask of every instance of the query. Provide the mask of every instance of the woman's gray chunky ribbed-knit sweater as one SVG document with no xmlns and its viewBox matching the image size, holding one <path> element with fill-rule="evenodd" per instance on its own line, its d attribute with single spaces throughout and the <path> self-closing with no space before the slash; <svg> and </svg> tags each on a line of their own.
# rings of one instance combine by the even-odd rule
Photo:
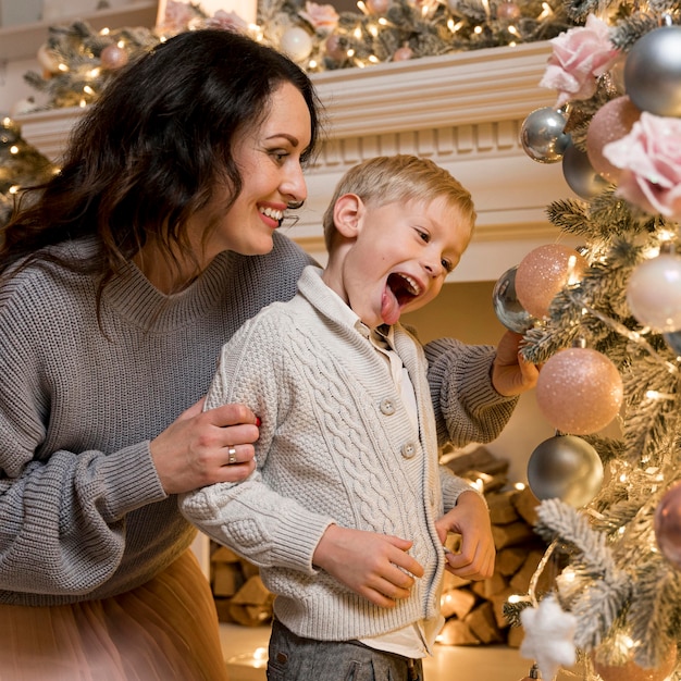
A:
<svg viewBox="0 0 681 681">
<path fill-rule="evenodd" d="M 0 288 L 0 603 L 125 592 L 189 546 L 149 441 L 206 394 L 234 331 L 294 295 L 310 259 L 274 244 L 222 253 L 170 297 L 127 267 L 102 300 L 107 336 L 90 276 L 32 267 Z"/>
</svg>

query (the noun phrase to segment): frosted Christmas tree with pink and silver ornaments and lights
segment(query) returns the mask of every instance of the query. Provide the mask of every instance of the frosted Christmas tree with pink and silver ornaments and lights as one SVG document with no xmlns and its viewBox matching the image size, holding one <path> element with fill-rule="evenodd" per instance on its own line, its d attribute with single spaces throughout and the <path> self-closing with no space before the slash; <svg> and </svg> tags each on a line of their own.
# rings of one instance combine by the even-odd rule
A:
<svg viewBox="0 0 681 681">
<path fill-rule="evenodd" d="M 522 126 L 532 159 L 562 163 L 579 198 L 547 215 L 581 243 L 533 250 L 494 294 L 556 430 L 528 463 L 553 587 L 506 608 L 530 678 L 681 679 L 680 10 L 568 2 L 556 102 Z"/>
</svg>

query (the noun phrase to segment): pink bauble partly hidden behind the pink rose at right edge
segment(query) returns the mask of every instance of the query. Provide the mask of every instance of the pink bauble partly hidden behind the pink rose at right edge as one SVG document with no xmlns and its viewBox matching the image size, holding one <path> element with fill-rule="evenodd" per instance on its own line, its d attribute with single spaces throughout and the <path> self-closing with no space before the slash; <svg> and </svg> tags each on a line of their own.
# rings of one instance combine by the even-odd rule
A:
<svg viewBox="0 0 681 681">
<path fill-rule="evenodd" d="M 622 171 L 603 156 L 603 148 L 628 135 L 640 116 L 641 111 L 624 96 L 603 104 L 589 124 L 586 156 L 594 170 L 610 182 L 617 182 Z"/>
</svg>

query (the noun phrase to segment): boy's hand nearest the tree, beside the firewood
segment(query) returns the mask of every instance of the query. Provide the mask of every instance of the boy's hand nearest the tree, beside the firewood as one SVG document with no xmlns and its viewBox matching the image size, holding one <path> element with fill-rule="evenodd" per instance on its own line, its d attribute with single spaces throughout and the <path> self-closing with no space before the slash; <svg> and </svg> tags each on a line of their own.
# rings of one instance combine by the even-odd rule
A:
<svg viewBox="0 0 681 681">
<path fill-rule="evenodd" d="M 457 505 L 435 523 L 442 543 L 449 532 L 461 535 L 458 554 L 447 554 L 447 570 L 467 580 L 485 580 L 494 572 L 494 537 L 490 512 L 475 492 L 461 492 Z"/>
</svg>

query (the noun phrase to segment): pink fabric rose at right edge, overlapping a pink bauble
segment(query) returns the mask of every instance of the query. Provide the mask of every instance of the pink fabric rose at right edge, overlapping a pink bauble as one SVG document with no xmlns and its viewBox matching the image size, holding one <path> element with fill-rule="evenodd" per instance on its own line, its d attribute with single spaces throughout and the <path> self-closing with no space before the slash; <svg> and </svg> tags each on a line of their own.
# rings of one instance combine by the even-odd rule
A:
<svg viewBox="0 0 681 681">
<path fill-rule="evenodd" d="M 622 170 L 616 195 L 648 213 L 681 219 L 681 119 L 647 111 L 624 137 L 603 147 Z"/>
</svg>

